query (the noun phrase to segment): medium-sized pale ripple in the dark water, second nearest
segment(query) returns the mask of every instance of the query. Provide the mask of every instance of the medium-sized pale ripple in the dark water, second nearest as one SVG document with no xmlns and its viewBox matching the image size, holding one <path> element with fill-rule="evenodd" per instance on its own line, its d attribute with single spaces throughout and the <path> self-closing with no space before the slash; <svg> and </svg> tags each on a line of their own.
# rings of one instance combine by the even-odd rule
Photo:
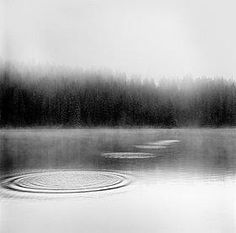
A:
<svg viewBox="0 0 236 233">
<path fill-rule="evenodd" d="M 113 153 L 102 153 L 105 158 L 113 159 L 146 159 L 156 157 L 151 153 L 140 153 L 140 152 L 113 152 Z"/>
</svg>

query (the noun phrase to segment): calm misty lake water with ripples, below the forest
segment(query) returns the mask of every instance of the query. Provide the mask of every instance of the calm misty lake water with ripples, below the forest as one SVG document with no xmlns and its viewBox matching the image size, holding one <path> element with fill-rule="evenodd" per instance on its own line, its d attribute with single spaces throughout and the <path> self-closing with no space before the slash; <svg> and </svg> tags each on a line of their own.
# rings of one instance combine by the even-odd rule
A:
<svg viewBox="0 0 236 233">
<path fill-rule="evenodd" d="M 236 232 L 235 129 L 0 131 L 1 233 Z"/>
</svg>

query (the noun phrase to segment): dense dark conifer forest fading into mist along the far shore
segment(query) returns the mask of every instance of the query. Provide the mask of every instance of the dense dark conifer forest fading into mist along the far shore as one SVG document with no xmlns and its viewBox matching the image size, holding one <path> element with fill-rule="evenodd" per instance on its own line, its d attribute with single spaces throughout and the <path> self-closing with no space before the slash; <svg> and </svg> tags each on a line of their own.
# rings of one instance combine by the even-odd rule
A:
<svg viewBox="0 0 236 233">
<path fill-rule="evenodd" d="M 0 72 L 0 126 L 235 126 L 236 85 L 88 71 Z"/>
</svg>

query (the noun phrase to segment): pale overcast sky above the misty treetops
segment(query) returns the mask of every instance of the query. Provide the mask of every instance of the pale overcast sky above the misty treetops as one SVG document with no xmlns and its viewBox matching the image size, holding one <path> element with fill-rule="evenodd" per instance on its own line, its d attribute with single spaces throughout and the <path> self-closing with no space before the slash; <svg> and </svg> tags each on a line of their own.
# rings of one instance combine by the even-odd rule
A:
<svg viewBox="0 0 236 233">
<path fill-rule="evenodd" d="M 2 1 L 2 58 L 154 77 L 236 75 L 235 0 Z"/>
</svg>

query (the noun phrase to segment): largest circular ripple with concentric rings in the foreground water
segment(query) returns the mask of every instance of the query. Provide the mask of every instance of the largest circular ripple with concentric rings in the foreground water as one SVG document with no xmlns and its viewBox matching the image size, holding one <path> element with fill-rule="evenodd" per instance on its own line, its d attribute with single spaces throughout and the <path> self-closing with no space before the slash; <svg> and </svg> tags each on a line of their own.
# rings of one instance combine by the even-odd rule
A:
<svg viewBox="0 0 236 233">
<path fill-rule="evenodd" d="M 85 193 L 128 185 L 126 176 L 106 171 L 52 171 L 6 178 L 2 187 L 28 193 Z"/>
</svg>

